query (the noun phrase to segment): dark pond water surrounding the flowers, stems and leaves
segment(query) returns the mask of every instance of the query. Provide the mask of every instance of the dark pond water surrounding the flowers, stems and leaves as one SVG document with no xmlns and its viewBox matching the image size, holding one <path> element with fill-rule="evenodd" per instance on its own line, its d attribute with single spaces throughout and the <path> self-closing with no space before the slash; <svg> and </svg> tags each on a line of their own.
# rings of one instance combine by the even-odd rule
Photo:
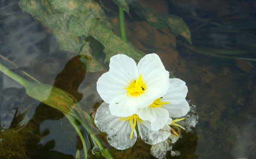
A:
<svg viewBox="0 0 256 159">
<path fill-rule="evenodd" d="M 18 0 L 0 1 L 0 55 L 9 60 L 0 58 L 0 63 L 25 78 L 21 70 L 41 83 L 70 93 L 94 116 L 102 102 L 96 81 L 108 71 L 108 63 L 102 71 L 87 72 L 77 54 L 61 50 L 51 30 L 41 24 L 40 18 L 22 12 L 18 3 Z M 113 32 L 119 34 L 118 7 L 110 0 L 102 3 L 111 10 L 106 15 Z M 186 47 L 189 43 L 170 29 L 155 29 L 143 21 L 135 14 L 136 7 L 131 7 L 130 16 L 125 15 L 128 41 L 146 54 L 155 52 L 166 70 L 186 82 L 187 97 L 196 105 L 199 115 L 195 129 L 183 132 L 174 147 L 181 155 L 167 158 L 255 159 L 255 0 L 141 0 L 141 3 L 155 12 L 182 17 L 192 33 L 193 46 L 250 51 L 246 55 L 218 54 L 225 57 L 200 54 Z M 230 25 L 233 23 L 240 28 Z M 250 33 L 254 38 L 239 43 L 242 33 Z M 87 40 L 93 53 L 103 52 L 104 46 L 97 40 L 91 37 Z M 62 113 L 30 98 L 20 84 L 3 73 L 0 73 L 0 126 L 1 159 L 9 159 L 11 155 L 13 159 L 75 159 L 76 150 L 82 149 L 76 131 Z M 108 145 L 103 133 L 99 130 L 95 133 L 114 158 L 154 158 L 150 146 L 141 140 L 134 147 L 119 151 Z M 91 150 L 89 158 L 96 158 L 90 153 Z"/>
</svg>

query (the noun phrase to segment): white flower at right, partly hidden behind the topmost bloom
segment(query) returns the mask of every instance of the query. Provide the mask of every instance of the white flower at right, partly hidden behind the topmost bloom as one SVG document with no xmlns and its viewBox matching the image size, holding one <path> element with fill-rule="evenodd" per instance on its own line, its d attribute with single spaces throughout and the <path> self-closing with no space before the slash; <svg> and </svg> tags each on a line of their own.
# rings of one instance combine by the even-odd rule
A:
<svg viewBox="0 0 256 159">
<path fill-rule="evenodd" d="M 189 112 L 189 104 L 186 101 L 188 88 L 186 83 L 178 78 L 169 79 L 169 88 L 165 95 L 157 98 L 145 108 L 137 110 L 140 119 L 151 122 L 152 130 L 162 129 L 171 118 L 185 116 Z"/>
</svg>

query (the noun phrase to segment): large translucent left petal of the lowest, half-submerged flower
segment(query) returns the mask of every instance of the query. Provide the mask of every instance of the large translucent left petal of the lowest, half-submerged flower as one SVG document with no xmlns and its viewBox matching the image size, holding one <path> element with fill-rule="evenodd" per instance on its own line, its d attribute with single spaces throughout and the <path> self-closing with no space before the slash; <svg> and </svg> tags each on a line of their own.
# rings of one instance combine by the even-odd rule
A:
<svg viewBox="0 0 256 159">
<path fill-rule="evenodd" d="M 136 130 L 134 130 L 132 139 L 131 126 L 129 121 L 120 121 L 119 117 L 112 116 L 108 104 L 103 102 L 95 116 L 95 124 L 102 132 L 108 134 L 108 143 L 118 150 L 125 150 L 132 147 L 137 139 Z"/>
</svg>

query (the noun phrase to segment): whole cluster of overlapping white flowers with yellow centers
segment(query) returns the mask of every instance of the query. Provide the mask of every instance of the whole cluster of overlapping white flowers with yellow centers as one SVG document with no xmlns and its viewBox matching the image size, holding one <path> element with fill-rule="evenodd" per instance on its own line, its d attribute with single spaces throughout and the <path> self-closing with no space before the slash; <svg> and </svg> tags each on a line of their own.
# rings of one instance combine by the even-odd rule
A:
<svg viewBox="0 0 256 159">
<path fill-rule="evenodd" d="M 189 112 L 188 89 L 184 81 L 169 79 L 156 54 L 145 55 L 137 66 L 126 55 L 113 56 L 109 71 L 97 81 L 97 90 L 106 103 L 99 106 L 95 124 L 116 149 L 133 146 L 138 133 L 145 143 L 155 145 L 173 136 L 171 131 L 180 137 L 168 125 L 185 129 L 176 123 L 183 119 L 171 117 Z"/>
</svg>

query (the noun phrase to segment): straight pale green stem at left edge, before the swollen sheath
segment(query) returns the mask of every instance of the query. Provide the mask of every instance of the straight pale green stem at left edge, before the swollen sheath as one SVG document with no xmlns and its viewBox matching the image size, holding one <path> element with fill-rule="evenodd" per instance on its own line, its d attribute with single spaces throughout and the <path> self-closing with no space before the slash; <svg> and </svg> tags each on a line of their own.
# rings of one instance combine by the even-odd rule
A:
<svg viewBox="0 0 256 159">
<path fill-rule="evenodd" d="M 0 64 L 0 71 L 4 74 L 8 75 L 10 78 L 21 84 L 23 87 L 27 87 L 30 82 L 21 77 L 20 75 L 17 75 L 16 73 L 12 72 L 10 69 L 6 68 L 2 64 Z"/>
</svg>

